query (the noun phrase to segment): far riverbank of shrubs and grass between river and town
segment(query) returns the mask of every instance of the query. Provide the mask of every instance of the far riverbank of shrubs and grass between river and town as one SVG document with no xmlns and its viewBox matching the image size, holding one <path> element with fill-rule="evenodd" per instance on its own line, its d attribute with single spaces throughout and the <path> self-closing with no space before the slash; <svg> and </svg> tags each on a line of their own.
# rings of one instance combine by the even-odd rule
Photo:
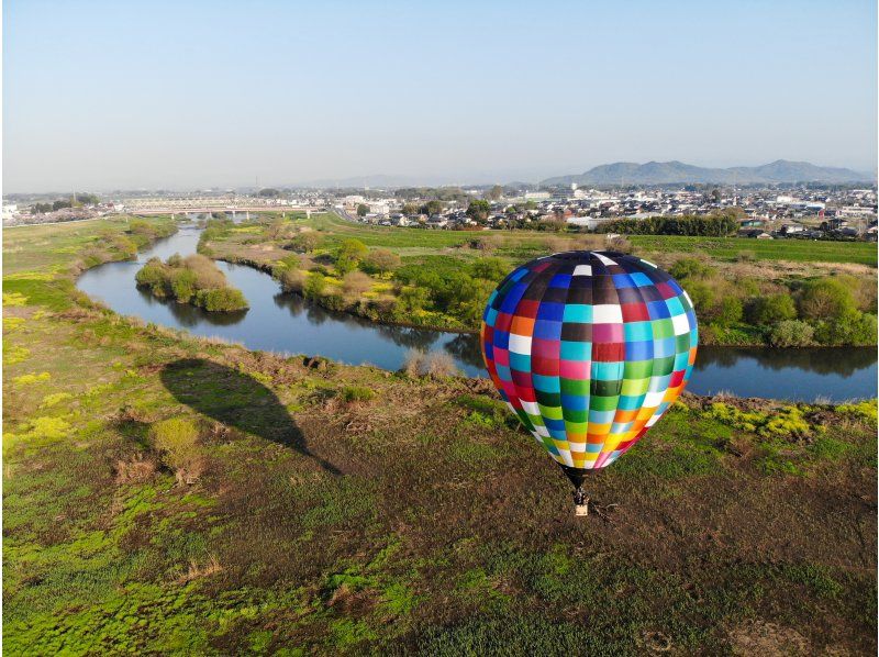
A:
<svg viewBox="0 0 879 657">
<path fill-rule="evenodd" d="M 622 246 L 685 285 L 703 344 L 876 344 L 874 245 L 635 235 Z M 330 214 L 215 225 L 201 245 L 324 307 L 454 331 L 478 328 L 486 298 L 514 265 L 605 247 L 601 235 L 388 229 Z"/>
</svg>

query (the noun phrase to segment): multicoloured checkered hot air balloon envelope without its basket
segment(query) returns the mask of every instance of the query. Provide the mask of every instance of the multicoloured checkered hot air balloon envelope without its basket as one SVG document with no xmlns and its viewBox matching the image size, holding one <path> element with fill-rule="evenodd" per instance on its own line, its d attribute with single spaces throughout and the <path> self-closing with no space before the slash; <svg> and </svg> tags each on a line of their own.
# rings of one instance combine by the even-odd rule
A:
<svg viewBox="0 0 879 657">
<path fill-rule="evenodd" d="M 683 391 L 696 360 L 687 292 L 641 258 L 568 252 L 515 269 L 491 293 L 481 346 L 491 380 L 549 455 L 603 468 Z"/>
</svg>

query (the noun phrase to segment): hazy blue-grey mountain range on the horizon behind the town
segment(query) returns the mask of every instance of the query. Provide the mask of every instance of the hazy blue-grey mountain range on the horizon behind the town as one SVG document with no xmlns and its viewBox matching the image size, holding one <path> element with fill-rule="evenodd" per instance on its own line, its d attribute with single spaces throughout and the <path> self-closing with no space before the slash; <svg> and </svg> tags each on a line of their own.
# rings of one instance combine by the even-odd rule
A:
<svg viewBox="0 0 879 657">
<path fill-rule="evenodd" d="M 759 167 L 731 167 L 713 169 L 682 162 L 617 162 L 593 167 L 571 176 L 556 176 L 541 181 L 541 186 L 557 185 L 663 185 L 715 183 L 748 185 L 771 182 L 874 182 L 875 176 L 835 167 L 819 167 L 808 162 L 777 159 Z"/>
</svg>

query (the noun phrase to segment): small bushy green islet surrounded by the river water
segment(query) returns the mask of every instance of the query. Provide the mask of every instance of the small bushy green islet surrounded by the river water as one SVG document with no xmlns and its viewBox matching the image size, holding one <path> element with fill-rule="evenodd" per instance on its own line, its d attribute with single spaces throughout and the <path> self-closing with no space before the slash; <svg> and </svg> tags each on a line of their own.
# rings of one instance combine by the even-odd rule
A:
<svg viewBox="0 0 879 657">
<path fill-rule="evenodd" d="M 247 300 L 229 285 L 216 265 L 202 255 L 173 255 L 163 263 L 149 258 L 136 276 L 137 286 L 159 299 L 191 303 L 210 312 L 234 312 L 247 309 Z"/>
</svg>

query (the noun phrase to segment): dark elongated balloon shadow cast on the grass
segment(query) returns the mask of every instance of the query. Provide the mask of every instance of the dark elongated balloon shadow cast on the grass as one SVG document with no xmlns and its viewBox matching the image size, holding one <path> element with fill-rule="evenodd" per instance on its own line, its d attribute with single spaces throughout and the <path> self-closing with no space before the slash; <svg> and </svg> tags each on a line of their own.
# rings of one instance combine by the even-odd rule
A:
<svg viewBox="0 0 879 657">
<path fill-rule="evenodd" d="M 255 378 L 203 358 L 175 360 L 165 366 L 159 378 L 177 401 L 199 413 L 291 447 L 324 470 L 341 474 L 309 450 L 305 437 L 278 397 Z"/>
</svg>

